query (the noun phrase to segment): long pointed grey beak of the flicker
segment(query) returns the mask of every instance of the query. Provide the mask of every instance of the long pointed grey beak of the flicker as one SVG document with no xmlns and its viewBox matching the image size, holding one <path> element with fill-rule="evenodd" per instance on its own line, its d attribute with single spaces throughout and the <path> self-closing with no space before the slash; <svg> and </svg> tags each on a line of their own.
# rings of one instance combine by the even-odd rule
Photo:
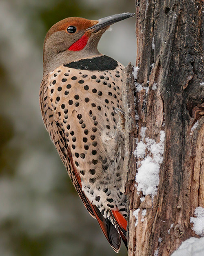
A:
<svg viewBox="0 0 204 256">
<path fill-rule="evenodd" d="M 123 14 L 115 14 L 113 16 L 102 18 L 102 19 L 98 20 L 97 24 L 93 25 L 92 27 L 87 28 L 86 30 L 93 29 L 93 32 L 98 32 L 99 30 L 101 30 L 105 27 L 109 27 L 113 23 L 116 23 L 120 20 L 124 20 L 124 19 L 127 19 L 127 18 L 131 18 L 134 15 L 135 14 L 126 12 L 126 13 L 123 13 Z"/>
</svg>

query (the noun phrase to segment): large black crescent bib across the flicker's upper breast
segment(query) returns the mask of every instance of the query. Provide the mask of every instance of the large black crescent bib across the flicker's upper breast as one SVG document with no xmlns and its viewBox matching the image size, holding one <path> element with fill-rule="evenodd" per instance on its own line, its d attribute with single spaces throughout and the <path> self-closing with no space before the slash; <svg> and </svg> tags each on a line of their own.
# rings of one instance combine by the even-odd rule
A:
<svg viewBox="0 0 204 256">
<path fill-rule="evenodd" d="M 118 66 L 118 62 L 111 57 L 102 55 L 91 59 L 80 59 L 64 65 L 65 67 L 81 69 L 81 70 L 113 70 Z"/>
</svg>

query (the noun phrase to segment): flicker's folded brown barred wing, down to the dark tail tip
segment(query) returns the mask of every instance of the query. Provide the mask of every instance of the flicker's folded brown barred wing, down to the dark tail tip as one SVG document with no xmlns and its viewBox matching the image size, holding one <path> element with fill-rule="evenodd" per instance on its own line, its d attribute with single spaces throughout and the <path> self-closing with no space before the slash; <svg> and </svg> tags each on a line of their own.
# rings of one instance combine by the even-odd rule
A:
<svg viewBox="0 0 204 256">
<path fill-rule="evenodd" d="M 104 218 L 99 209 L 89 202 L 89 199 L 84 195 L 82 191 L 81 179 L 76 170 L 75 164 L 73 163 L 73 158 L 69 147 L 67 146 L 64 131 L 60 124 L 54 120 L 53 111 L 48 104 L 48 83 L 46 77 L 42 80 L 40 86 L 40 110 L 42 113 L 42 119 L 44 125 L 49 132 L 51 140 L 53 141 L 62 162 L 67 168 L 69 177 L 77 190 L 80 198 L 86 209 L 89 211 L 90 215 L 98 220 L 98 223 L 104 233 L 104 236 L 113 247 L 113 249 L 118 252 L 120 249 L 121 238 L 118 231 L 115 229 L 114 225 L 108 218 Z"/>
</svg>

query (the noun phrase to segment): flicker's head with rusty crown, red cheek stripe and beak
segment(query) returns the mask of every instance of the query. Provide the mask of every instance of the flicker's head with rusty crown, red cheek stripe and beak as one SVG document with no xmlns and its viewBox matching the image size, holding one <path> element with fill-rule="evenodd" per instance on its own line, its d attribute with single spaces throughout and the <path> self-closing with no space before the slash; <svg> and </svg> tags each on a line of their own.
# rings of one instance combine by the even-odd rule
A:
<svg viewBox="0 0 204 256">
<path fill-rule="evenodd" d="M 101 55 L 98 42 L 113 23 L 133 17 L 134 14 L 116 14 L 100 20 L 71 17 L 59 21 L 49 29 L 44 40 L 44 74 L 62 64 Z"/>
</svg>

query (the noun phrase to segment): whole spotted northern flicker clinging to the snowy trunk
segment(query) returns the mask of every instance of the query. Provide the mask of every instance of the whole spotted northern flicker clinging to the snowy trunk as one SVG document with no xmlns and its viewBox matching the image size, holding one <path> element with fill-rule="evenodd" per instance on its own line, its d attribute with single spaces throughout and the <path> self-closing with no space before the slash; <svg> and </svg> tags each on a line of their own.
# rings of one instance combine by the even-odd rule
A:
<svg viewBox="0 0 204 256">
<path fill-rule="evenodd" d="M 116 252 L 121 238 L 127 242 L 119 129 L 124 66 L 98 52 L 98 42 L 111 24 L 133 16 L 65 18 L 53 25 L 44 41 L 40 86 L 44 125 L 82 202 Z"/>
</svg>

